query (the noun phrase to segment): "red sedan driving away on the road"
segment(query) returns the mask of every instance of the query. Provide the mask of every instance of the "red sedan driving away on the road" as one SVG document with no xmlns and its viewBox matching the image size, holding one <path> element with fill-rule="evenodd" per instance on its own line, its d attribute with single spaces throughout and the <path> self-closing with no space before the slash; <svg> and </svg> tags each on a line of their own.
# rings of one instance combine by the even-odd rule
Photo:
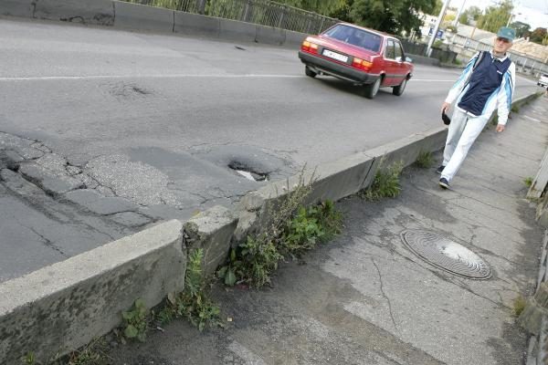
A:
<svg viewBox="0 0 548 365">
<path fill-rule="evenodd" d="M 319 36 L 308 36 L 299 57 L 307 76 L 325 74 L 350 81 L 363 86 L 368 99 L 381 87 L 402 95 L 413 76 L 411 59 L 397 38 L 352 24 L 339 23 Z"/>
</svg>

